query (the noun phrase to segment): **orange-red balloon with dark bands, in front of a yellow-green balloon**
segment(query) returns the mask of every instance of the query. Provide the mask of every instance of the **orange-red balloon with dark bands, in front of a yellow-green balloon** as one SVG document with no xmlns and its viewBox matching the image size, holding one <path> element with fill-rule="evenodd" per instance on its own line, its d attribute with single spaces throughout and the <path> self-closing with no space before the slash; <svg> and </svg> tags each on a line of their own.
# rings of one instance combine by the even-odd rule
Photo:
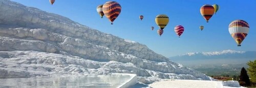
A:
<svg viewBox="0 0 256 88">
<path fill-rule="evenodd" d="M 214 10 L 215 10 L 214 7 L 212 7 L 211 5 L 204 5 L 201 7 L 200 9 L 201 15 L 204 17 L 207 23 L 210 17 L 214 15 Z"/>
</svg>

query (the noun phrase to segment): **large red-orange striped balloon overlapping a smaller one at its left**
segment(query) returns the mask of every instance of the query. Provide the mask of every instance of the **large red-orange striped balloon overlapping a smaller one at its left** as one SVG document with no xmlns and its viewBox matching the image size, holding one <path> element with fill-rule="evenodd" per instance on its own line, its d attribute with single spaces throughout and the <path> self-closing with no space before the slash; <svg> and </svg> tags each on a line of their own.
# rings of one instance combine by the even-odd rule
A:
<svg viewBox="0 0 256 88">
<path fill-rule="evenodd" d="M 103 5 L 102 10 L 104 15 L 111 21 L 111 25 L 113 25 L 113 21 L 121 12 L 121 6 L 117 2 L 110 1 Z"/>
</svg>

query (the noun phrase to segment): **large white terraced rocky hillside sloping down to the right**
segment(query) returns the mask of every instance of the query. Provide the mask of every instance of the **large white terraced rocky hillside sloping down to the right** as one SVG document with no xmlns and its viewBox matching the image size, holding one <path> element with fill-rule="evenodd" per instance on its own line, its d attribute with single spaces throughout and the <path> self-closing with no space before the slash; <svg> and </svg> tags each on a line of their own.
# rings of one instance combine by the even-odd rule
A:
<svg viewBox="0 0 256 88">
<path fill-rule="evenodd" d="M 0 78 L 133 73 L 153 78 L 209 77 L 145 45 L 102 33 L 67 17 L 0 0 Z"/>
</svg>

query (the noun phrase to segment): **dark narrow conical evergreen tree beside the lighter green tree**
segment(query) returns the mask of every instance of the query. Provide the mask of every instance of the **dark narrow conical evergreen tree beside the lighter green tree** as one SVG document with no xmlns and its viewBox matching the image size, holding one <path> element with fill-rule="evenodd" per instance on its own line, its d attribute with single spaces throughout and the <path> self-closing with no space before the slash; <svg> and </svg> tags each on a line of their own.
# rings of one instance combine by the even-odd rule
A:
<svg viewBox="0 0 256 88">
<path fill-rule="evenodd" d="M 247 75 L 247 71 L 244 69 L 244 67 L 241 69 L 239 82 L 245 82 L 245 85 L 247 85 L 247 86 L 250 85 L 250 79 L 249 79 L 249 76 Z"/>
</svg>

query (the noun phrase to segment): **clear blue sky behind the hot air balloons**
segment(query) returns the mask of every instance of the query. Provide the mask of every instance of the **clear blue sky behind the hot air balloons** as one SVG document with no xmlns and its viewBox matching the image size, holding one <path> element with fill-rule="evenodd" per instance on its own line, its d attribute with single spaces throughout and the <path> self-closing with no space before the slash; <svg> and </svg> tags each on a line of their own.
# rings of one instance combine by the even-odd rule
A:
<svg viewBox="0 0 256 88">
<path fill-rule="evenodd" d="M 222 50 L 256 51 L 256 1 L 255 0 L 116 0 L 121 5 L 121 13 L 111 25 L 105 16 L 100 18 L 96 11 L 98 5 L 106 0 L 55 0 L 51 5 L 48 0 L 11 0 L 25 6 L 59 14 L 104 33 L 137 41 L 151 50 L 166 57 L 189 52 L 211 52 Z M 205 5 L 219 5 L 219 11 L 209 23 L 200 13 Z M 169 23 L 160 37 L 155 17 L 165 14 Z M 143 20 L 139 19 L 143 15 Z M 247 37 L 241 47 L 230 36 L 228 26 L 233 20 L 242 19 L 250 26 Z M 184 32 L 179 38 L 174 27 L 182 25 Z M 204 30 L 199 29 L 204 26 Z M 152 31 L 151 27 L 155 27 Z"/>
</svg>

